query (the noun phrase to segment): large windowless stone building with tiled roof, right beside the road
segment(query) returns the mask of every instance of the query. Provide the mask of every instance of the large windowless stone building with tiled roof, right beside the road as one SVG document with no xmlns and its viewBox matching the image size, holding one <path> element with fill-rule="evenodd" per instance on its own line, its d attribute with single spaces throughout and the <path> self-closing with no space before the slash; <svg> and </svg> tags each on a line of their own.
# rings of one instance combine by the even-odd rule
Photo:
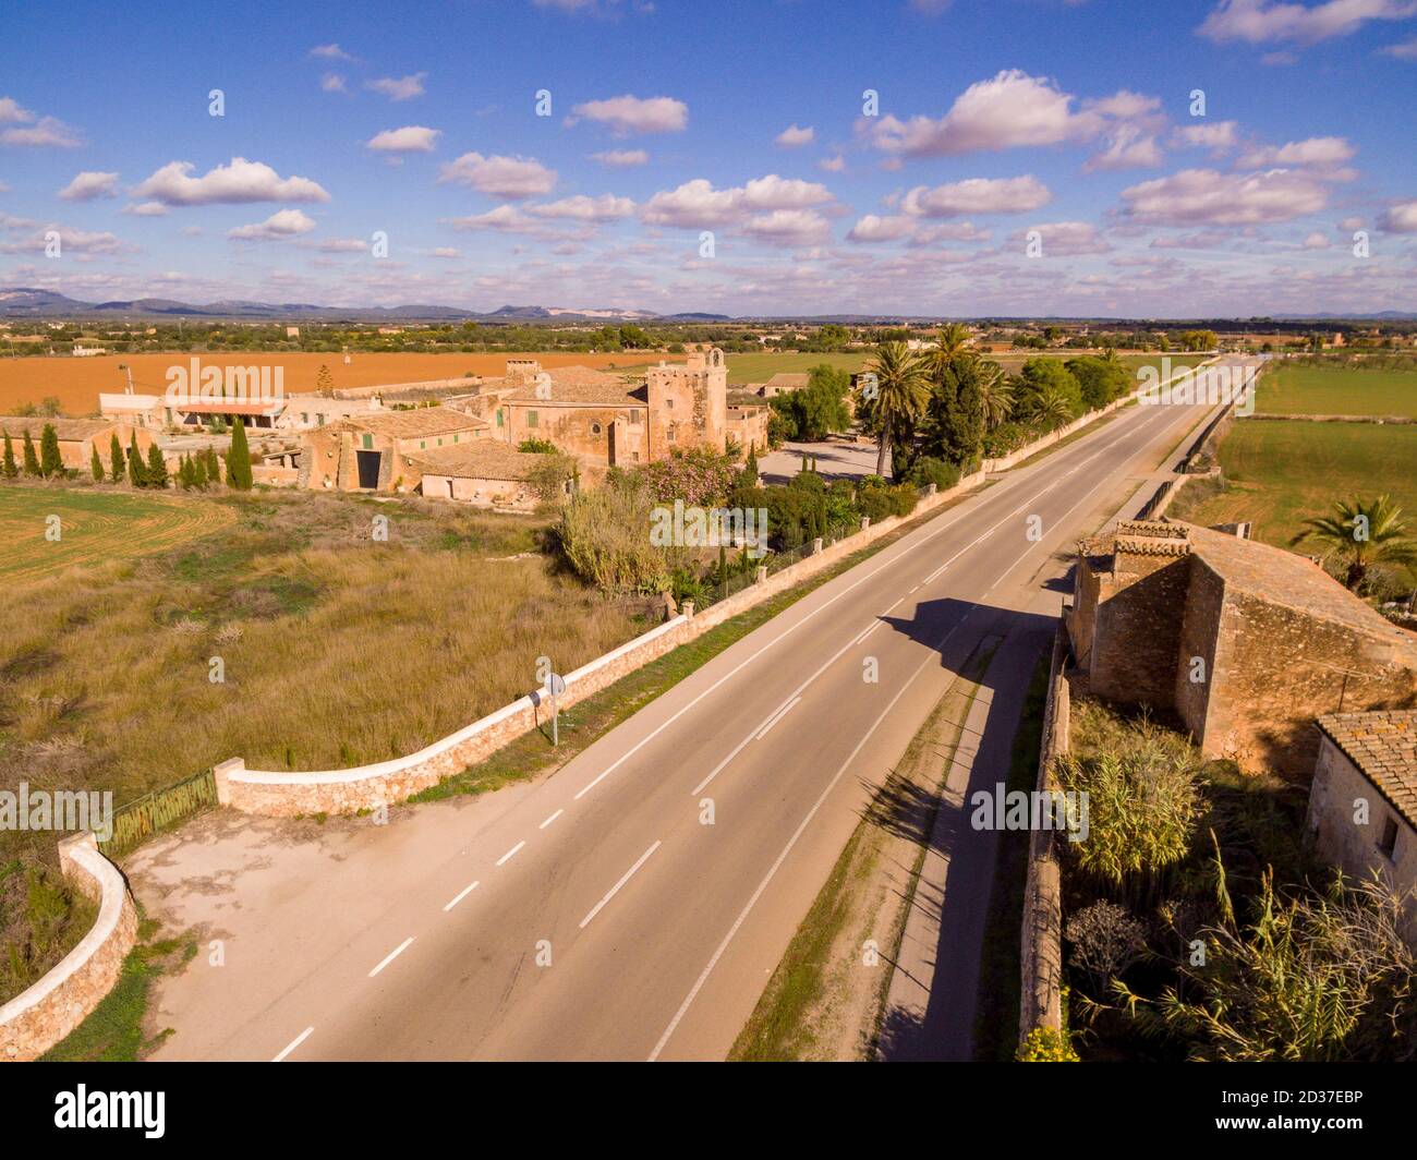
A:
<svg viewBox="0 0 1417 1160">
<path fill-rule="evenodd" d="M 1127 520 L 1084 540 L 1066 618 L 1083 688 L 1297 779 L 1315 718 L 1417 705 L 1417 638 L 1314 560 L 1216 529 Z"/>
</svg>

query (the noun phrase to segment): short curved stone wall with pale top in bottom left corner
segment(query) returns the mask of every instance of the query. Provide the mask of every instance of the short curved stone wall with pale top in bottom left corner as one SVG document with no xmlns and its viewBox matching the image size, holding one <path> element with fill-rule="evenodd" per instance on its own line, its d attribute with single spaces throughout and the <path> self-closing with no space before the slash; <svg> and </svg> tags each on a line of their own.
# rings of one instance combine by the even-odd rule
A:
<svg viewBox="0 0 1417 1160">
<path fill-rule="evenodd" d="M 38 1059 L 98 1005 L 118 981 L 137 942 L 137 912 L 118 868 L 92 834 L 60 842 L 60 866 L 98 903 L 94 929 L 54 970 L 0 1007 L 0 1061 Z"/>
</svg>

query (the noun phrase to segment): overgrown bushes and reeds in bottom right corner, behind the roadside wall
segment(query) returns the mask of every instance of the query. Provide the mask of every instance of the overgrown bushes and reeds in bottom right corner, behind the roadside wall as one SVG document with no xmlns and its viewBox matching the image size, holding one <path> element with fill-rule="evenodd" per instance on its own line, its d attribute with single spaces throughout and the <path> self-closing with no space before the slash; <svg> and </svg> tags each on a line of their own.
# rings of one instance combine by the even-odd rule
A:
<svg viewBox="0 0 1417 1160">
<path fill-rule="evenodd" d="M 1073 709 L 1063 842 L 1071 1041 L 1083 1058 L 1400 1061 L 1417 1044 L 1400 905 L 1311 862 L 1304 796 L 1095 701 Z"/>
</svg>

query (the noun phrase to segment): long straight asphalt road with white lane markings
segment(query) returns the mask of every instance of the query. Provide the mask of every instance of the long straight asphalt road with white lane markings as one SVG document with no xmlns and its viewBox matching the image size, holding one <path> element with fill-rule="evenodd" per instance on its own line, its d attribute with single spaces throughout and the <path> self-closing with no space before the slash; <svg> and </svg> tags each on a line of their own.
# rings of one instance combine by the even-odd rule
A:
<svg viewBox="0 0 1417 1160">
<path fill-rule="evenodd" d="M 163 983 L 157 1058 L 723 1058 L 975 644 L 1040 638 L 1060 553 L 1207 410 L 1129 407 L 1000 476 L 533 786 L 350 822 L 319 851 L 249 820 L 156 847 L 139 896 L 179 920 L 207 903 L 224 936 L 220 967 Z M 972 898 L 968 964 L 992 835 L 954 840 L 989 842 L 947 892 Z"/>
</svg>

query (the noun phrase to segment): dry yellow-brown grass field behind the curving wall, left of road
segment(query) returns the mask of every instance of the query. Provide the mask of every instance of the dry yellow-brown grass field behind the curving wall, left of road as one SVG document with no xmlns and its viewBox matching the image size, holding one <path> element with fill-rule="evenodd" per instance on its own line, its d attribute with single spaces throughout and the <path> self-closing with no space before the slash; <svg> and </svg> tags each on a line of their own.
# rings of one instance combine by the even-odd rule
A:
<svg viewBox="0 0 1417 1160">
<path fill-rule="evenodd" d="M 122 805 L 232 756 L 378 762 L 534 688 L 541 655 L 570 671 L 649 627 L 643 606 L 560 571 L 533 516 L 315 492 L 193 498 L 184 535 L 132 559 L 123 518 L 166 509 L 129 499 L 0 489 L 7 523 L 61 506 L 95 529 L 82 567 L 0 586 L 0 788 L 112 790 Z M 371 536 L 381 515 L 387 542 Z"/>
</svg>

